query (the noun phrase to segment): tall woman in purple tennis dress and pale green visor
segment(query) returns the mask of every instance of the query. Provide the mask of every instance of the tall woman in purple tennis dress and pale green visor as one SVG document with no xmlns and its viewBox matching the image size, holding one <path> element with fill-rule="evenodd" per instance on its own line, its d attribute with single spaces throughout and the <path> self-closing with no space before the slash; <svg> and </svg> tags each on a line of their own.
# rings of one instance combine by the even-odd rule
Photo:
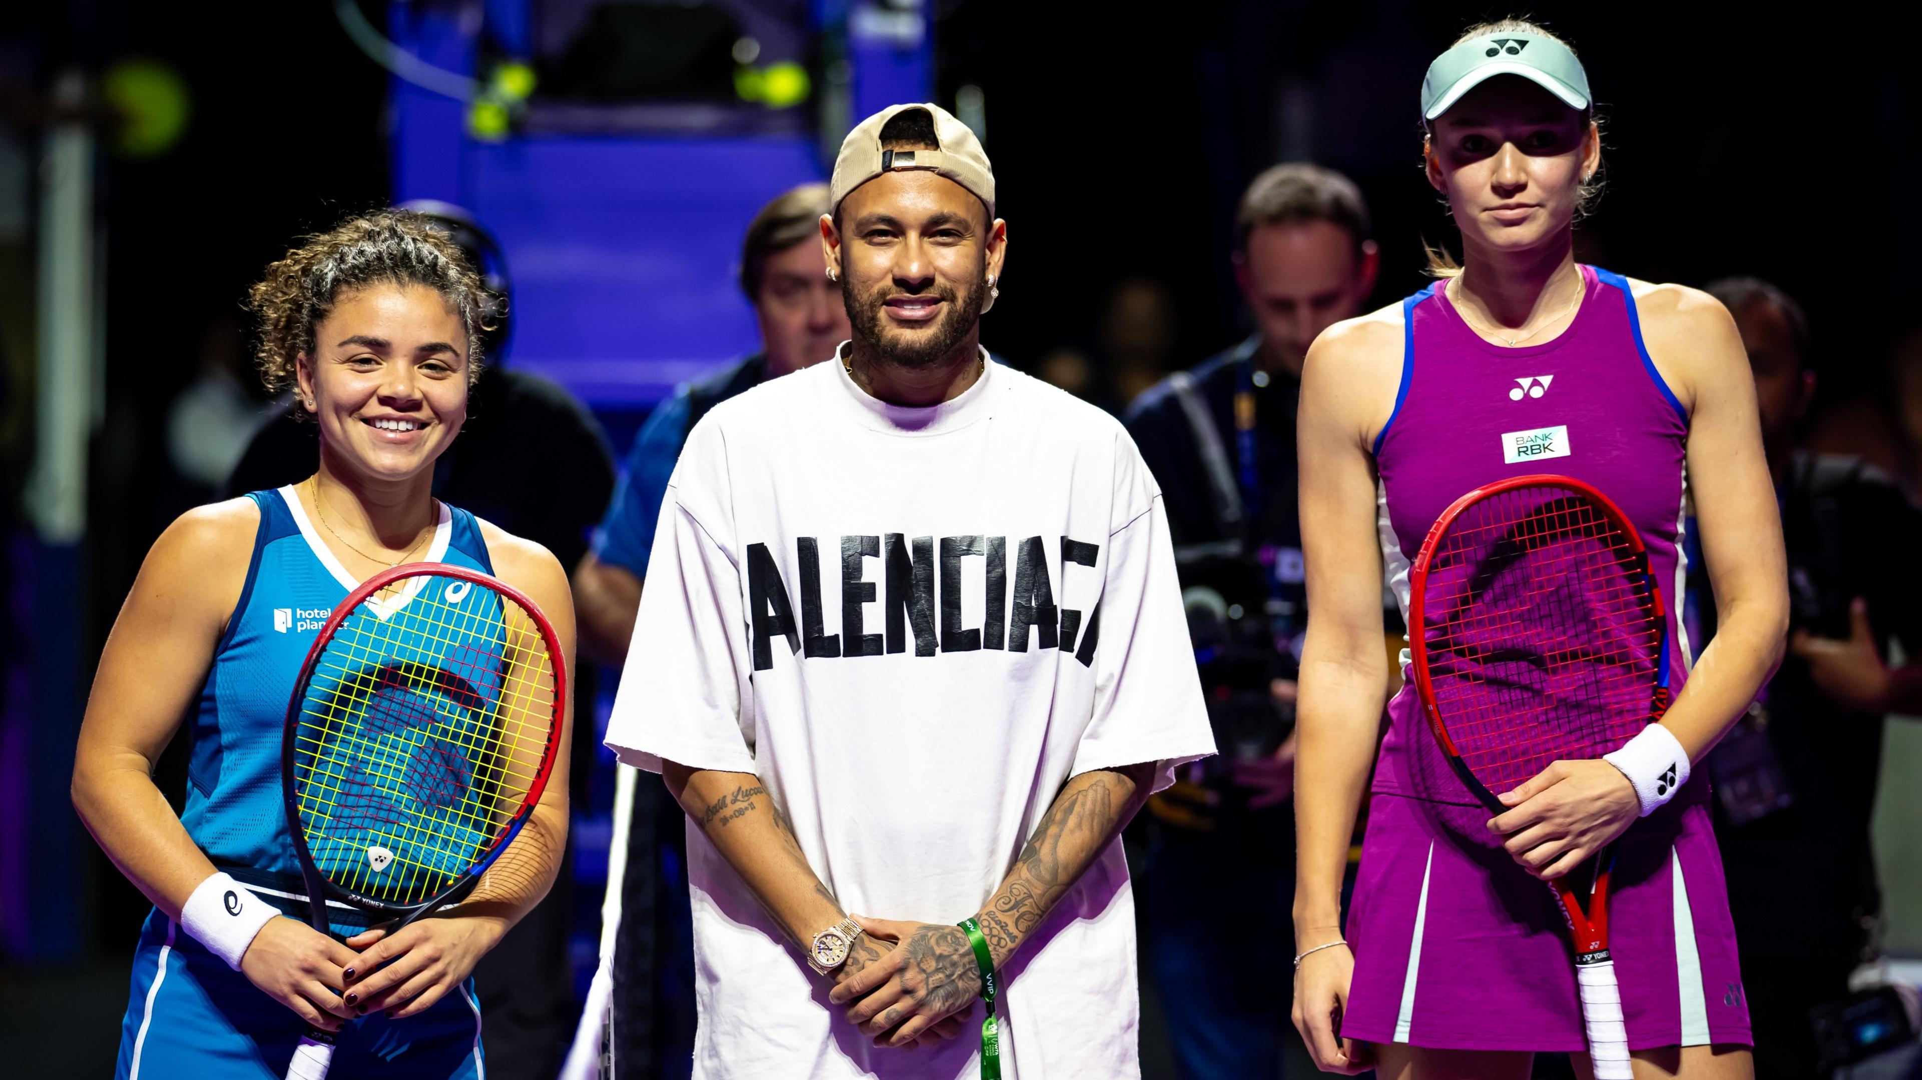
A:
<svg viewBox="0 0 1922 1080">
<path fill-rule="evenodd" d="M 1622 836 L 1609 924 L 1636 1076 L 1749 1078 L 1707 778 L 1688 778 L 1774 669 L 1787 625 L 1741 340 L 1707 294 L 1574 261 L 1601 142 L 1565 42 L 1522 21 L 1476 27 L 1430 67 L 1422 113 L 1428 181 L 1461 229 L 1463 265 L 1324 332 L 1301 388 L 1315 619 L 1299 698 L 1295 1026 L 1332 1072 L 1526 1078 L 1536 1051 L 1565 1051 L 1588 1076 L 1565 915 L 1540 878 Z M 1409 563 L 1436 517 L 1524 473 L 1613 498 L 1670 598 L 1691 498 L 1720 630 L 1691 669 L 1670 625 L 1680 696 L 1663 723 L 1607 759 L 1551 765 L 1490 821 L 1432 767 L 1413 686 L 1388 705 L 1376 749 L 1388 673 L 1374 552 L 1407 611 Z"/>
</svg>

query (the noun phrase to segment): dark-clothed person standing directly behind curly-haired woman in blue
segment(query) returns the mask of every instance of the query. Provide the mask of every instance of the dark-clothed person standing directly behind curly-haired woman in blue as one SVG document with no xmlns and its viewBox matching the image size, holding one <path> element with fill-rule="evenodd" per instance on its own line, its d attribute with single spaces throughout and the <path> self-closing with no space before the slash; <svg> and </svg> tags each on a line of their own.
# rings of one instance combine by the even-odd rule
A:
<svg viewBox="0 0 1922 1080">
<path fill-rule="evenodd" d="M 469 417 L 432 471 L 436 498 L 527 536 L 563 567 L 588 548 L 588 532 L 613 494 L 607 436 L 557 382 L 505 365 L 511 286 L 494 238 L 465 209 L 419 200 L 406 204 L 421 221 L 461 250 L 486 275 L 490 296 L 480 338 L 488 363 L 469 392 Z M 298 400 L 265 423 L 227 480 L 229 494 L 271 490 L 313 473 L 319 432 L 302 419 Z M 594 715 L 592 665 L 577 665 L 575 713 Z M 573 732 L 573 786 L 586 805 L 594 761 L 594 723 Z M 488 1074 L 496 1080 L 548 1080 L 573 1036 L 579 1003 L 567 936 L 575 909 L 573 849 L 546 899 L 480 961 L 475 986 L 486 1011 Z"/>
</svg>

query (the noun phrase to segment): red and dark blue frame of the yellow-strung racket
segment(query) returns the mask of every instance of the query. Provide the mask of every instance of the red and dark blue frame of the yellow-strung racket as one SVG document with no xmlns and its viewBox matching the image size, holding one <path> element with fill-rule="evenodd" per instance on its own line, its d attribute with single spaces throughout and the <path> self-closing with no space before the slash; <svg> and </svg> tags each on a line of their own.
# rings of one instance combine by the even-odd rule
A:
<svg viewBox="0 0 1922 1080">
<path fill-rule="evenodd" d="M 540 755 L 540 769 L 534 773 L 534 780 L 527 788 L 527 799 L 523 799 L 521 809 L 515 811 L 513 821 L 507 822 L 507 826 L 502 830 L 494 846 L 488 847 L 486 855 L 475 861 L 475 865 L 459 880 L 442 890 L 438 896 L 421 903 L 390 903 L 384 899 L 375 899 L 371 896 L 361 896 L 357 892 L 340 888 L 331 880 L 327 880 L 327 876 L 319 872 L 319 867 L 313 865 L 313 853 L 308 849 L 308 836 L 306 830 L 300 826 L 300 807 L 294 798 L 294 732 L 300 728 L 300 705 L 306 700 L 308 680 L 313 676 L 313 665 L 319 663 L 321 651 L 325 650 L 327 642 L 333 640 L 334 630 L 340 628 L 340 623 L 344 623 L 346 617 L 354 609 L 357 609 L 369 596 L 381 592 L 382 588 L 394 584 L 396 580 L 409 577 L 423 577 L 423 575 L 459 578 L 479 586 L 486 586 L 505 596 L 507 600 L 519 603 L 521 609 L 534 619 L 534 625 L 540 628 L 542 642 L 548 646 L 548 655 L 554 657 L 554 724 L 548 728 L 548 746 Z M 413 917 L 425 911 L 432 911 L 442 903 L 457 899 L 457 894 L 463 894 L 465 890 L 473 888 L 477 880 L 480 880 L 480 872 L 486 871 L 490 865 L 494 865 L 494 859 L 498 859 L 500 853 L 505 851 L 509 844 L 513 844 L 513 838 L 521 834 L 521 826 L 527 824 L 527 819 L 529 815 L 532 815 L 532 809 L 540 805 L 540 796 L 548 790 L 548 776 L 554 774 L 554 761 L 559 757 L 561 723 L 567 717 L 565 655 L 567 653 L 561 651 L 559 636 L 548 623 L 548 615 L 532 600 L 529 600 L 525 592 L 513 588 L 511 584 L 496 577 L 467 567 L 456 567 L 452 563 L 404 563 L 381 571 L 371 578 L 363 580 L 354 592 L 346 596 L 346 600 L 334 605 L 333 613 L 327 615 L 327 621 L 321 623 L 321 632 L 313 636 L 313 646 L 308 650 L 308 659 L 302 661 L 300 665 L 300 678 L 294 680 L 294 694 L 286 703 L 286 724 L 281 734 L 281 776 L 283 776 L 281 794 L 286 801 L 286 828 L 294 836 L 294 849 L 300 855 L 300 869 L 308 880 L 308 903 L 311 905 L 311 915 L 313 915 L 311 922 L 317 930 L 321 930 L 323 934 L 327 932 L 325 907 L 329 896 L 346 899 L 348 903 L 361 907 L 365 911 L 398 915 L 404 920 L 402 924 L 406 924 L 411 922 Z"/>
</svg>

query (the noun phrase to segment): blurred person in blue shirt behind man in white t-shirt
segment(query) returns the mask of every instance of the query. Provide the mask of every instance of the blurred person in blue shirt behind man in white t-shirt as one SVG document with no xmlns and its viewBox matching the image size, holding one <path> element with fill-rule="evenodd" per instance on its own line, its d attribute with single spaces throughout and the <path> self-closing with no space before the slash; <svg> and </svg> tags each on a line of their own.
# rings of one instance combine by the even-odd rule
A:
<svg viewBox="0 0 1922 1080">
<path fill-rule="evenodd" d="M 575 571 L 582 646 L 600 663 L 619 667 L 627 659 L 655 519 L 694 423 L 742 390 L 828 359 L 850 338 L 840 284 L 821 254 L 826 211 L 828 186 L 801 184 L 753 215 L 742 238 L 740 288 L 753 304 L 761 352 L 680 386 L 634 436 L 594 550 Z M 613 1059 L 621 1076 L 686 1076 L 694 1055 L 694 938 L 680 807 L 665 786 L 638 784 L 623 824 L 615 830 L 627 871 L 613 961 Z"/>
</svg>

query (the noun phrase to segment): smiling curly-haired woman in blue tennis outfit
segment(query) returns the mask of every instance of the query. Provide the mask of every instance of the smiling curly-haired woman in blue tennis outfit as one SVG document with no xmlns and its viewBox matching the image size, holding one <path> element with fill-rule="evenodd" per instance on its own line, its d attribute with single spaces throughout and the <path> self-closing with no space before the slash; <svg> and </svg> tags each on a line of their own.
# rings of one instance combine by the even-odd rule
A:
<svg viewBox="0 0 1922 1080">
<path fill-rule="evenodd" d="M 461 903 L 386 936 L 357 909 L 333 936 L 281 803 L 286 700 L 327 607 L 407 561 L 498 575 L 544 609 L 571 665 L 559 561 L 431 494 L 467 419 L 486 286 L 413 213 L 308 238 L 254 286 L 259 365 L 319 434 L 298 484 L 185 513 L 154 542 L 100 657 L 73 805 L 154 903 L 135 953 L 117 1076 L 279 1080 L 308 1024 L 340 1076 L 486 1076 L 469 972 L 554 882 L 567 761 Z M 284 607 L 283 607 L 284 605 Z M 290 628 L 286 609 L 321 609 Z M 177 817 L 154 761 L 190 721 Z M 565 721 L 563 721 L 565 723 Z"/>
</svg>

